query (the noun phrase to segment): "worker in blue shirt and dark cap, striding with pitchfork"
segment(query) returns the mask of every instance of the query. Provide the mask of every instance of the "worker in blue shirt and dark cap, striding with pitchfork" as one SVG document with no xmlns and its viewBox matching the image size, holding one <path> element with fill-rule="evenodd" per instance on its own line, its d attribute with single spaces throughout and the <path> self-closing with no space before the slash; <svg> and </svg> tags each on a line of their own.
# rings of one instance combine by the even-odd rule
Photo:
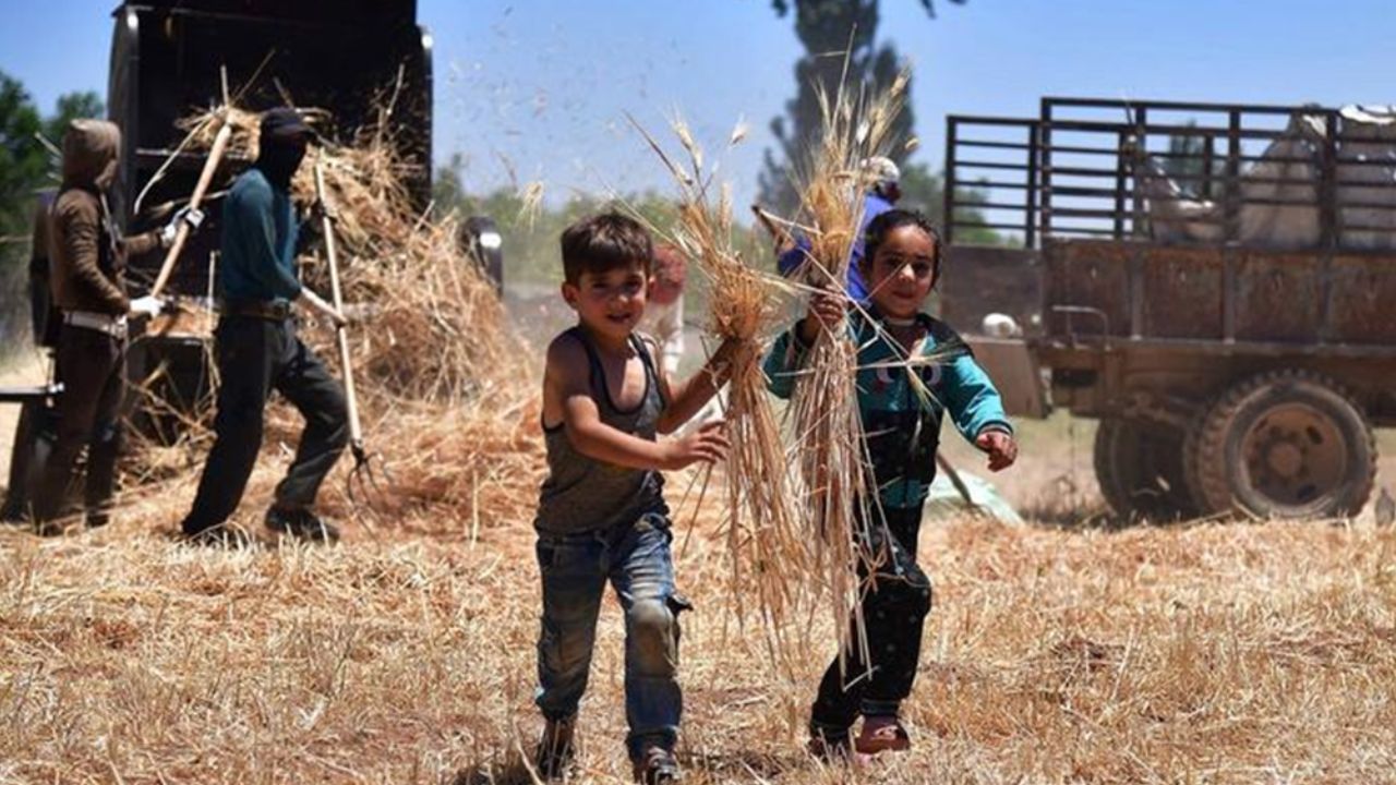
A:
<svg viewBox="0 0 1396 785">
<path fill-rule="evenodd" d="M 325 365 L 296 337 L 290 306 L 304 299 L 335 324 L 343 317 L 304 289 L 296 277 L 296 222 L 290 180 L 311 131 L 292 109 L 262 115 L 255 166 L 233 183 L 223 201 L 222 317 L 215 353 L 216 440 L 204 465 L 194 507 L 183 531 L 200 545 L 243 546 L 250 536 L 226 524 L 242 501 L 262 440 L 262 412 L 272 390 L 306 418 L 296 460 L 276 486 L 267 527 L 310 542 L 334 542 L 339 532 L 310 507 L 320 483 L 349 441 L 345 392 Z"/>
</svg>

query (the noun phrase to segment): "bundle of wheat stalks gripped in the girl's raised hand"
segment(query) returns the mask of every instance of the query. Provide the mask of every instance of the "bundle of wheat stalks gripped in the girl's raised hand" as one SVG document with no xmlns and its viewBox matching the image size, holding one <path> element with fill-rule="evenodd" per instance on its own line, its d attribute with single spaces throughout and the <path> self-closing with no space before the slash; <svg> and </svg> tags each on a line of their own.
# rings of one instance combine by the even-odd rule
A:
<svg viewBox="0 0 1396 785">
<path fill-rule="evenodd" d="M 797 177 L 799 223 L 810 239 L 804 278 L 812 286 L 846 296 L 849 254 L 863 222 L 868 186 L 861 162 L 884 155 L 895 144 L 893 122 L 909 78 L 909 71 L 902 71 L 875 94 L 846 82 L 832 98 L 817 91 L 822 133 Z M 877 489 L 867 485 L 870 461 L 853 384 L 857 351 L 843 323 L 826 325 L 794 380 L 787 416 L 796 437 L 793 464 L 805 487 L 801 514 L 811 522 L 818 545 L 814 573 L 822 575 L 832 598 L 839 651 L 842 655 L 857 645 L 868 662 L 859 606 L 866 587 L 859 580 L 859 564 L 871 564 L 877 555 L 866 553 L 859 543 L 866 541 L 863 529 L 881 524 Z M 853 624 L 845 624 L 845 619 L 853 619 Z"/>
</svg>

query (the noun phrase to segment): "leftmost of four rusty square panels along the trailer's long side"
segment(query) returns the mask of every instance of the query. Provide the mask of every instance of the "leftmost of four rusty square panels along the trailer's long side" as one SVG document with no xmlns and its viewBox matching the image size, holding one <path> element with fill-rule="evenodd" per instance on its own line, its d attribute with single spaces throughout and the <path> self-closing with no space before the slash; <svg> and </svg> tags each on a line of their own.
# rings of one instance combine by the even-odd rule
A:
<svg viewBox="0 0 1396 785">
<path fill-rule="evenodd" d="M 1048 334 L 1129 334 L 1129 257 L 1134 246 L 1110 240 L 1065 240 L 1047 243 Z M 1090 313 L 1060 313 L 1053 309 L 1086 309 Z"/>
</svg>

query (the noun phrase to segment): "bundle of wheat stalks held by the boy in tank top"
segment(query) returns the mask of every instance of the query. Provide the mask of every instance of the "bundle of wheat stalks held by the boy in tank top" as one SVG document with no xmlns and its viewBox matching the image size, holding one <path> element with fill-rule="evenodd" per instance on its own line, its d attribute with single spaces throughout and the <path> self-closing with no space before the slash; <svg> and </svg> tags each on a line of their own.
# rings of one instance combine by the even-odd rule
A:
<svg viewBox="0 0 1396 785">
<path fill-rule="evenodd" d="M 772 652 L 787 661 L 786 631 L 805 588 L 803 566 L 807 542 L 794 508 L 794 487 L 780 439 L 780 427 L 766 394 L 762 370 L 768 337 L 783 314 L 780 293 L 789 285 L 748 265 L 733 243 L 732 190 L 715 183 L 704 166 L 704 149 L 688 124 L 670 126 L 687 156 L 676 162 L 645 129 L 631 119 L 678 184 L 677 221 L 666 235 L 708 278 L 706 331 L 734 341 L 725 401 L 725 429 L 732 450 L 726 458 L 726 522 L 732 606 L 740 622 L 752 609 L 761 616 Z M 727 148 L 741 142 L 738 123 Z M 716 194 L 715 194 L 716 191 Z"/>
</svg>

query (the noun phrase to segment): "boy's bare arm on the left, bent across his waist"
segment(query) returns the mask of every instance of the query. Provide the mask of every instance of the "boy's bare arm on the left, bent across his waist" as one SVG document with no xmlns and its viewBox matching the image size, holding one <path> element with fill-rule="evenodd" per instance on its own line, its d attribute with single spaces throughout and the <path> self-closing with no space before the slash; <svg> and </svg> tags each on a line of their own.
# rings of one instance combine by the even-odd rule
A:
<svg viewBox="0 0 1396 785">
<path fill-rule="evenodd" d="M 563 426 L 572 447 L 597 461 L 631 469 L 681 469 L 695 461 L 718 461 L 726 439 L 705 429 L 677 441 L 651 441 L 602 422 L 591 391 L 586 351 L 571 338 L 557 338 L 547 348 L 544 391 L 561 401 Z"/>
</svg>

